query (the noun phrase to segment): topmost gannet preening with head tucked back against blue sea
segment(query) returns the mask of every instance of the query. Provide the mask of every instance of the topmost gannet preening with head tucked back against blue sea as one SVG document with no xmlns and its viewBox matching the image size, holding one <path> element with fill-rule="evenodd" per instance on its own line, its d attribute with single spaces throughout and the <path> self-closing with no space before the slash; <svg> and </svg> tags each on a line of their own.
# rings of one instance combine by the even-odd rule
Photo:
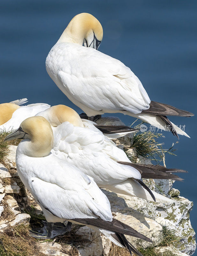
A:
<svg viewBox="0 0 197 256">
<path fill-rule="evenodd" d="M 80 13 L 69 22 L 46 59 L 47 73 L 59 89 L 89 117 L 122 113 L 177 137 L 189 137 L 166 116 L 193 114 L 151 101 L 130 68 L 97 51 L 102 38 L 100 22 L 89 13 Z"/>
</svg>

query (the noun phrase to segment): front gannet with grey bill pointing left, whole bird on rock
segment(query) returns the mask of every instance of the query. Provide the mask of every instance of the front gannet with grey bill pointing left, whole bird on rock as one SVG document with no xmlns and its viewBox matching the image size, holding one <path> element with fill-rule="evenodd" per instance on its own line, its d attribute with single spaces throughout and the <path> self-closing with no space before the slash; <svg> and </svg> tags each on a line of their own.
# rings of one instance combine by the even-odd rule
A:
<svg viewBox="0 0 197 256">
<path fill-rule="evenodd" d="M 53 131 L 44 117 L 27 118 L 5 141 L 17 138 L 24 139 L 16 152 L 18 175 L 46 217 L 48 231 L 43 236 L 54 238 L 54 222 L 68 220 L 100 232 L 120 247 L 126 247 L 131 255 L 134 252 L 142 256 L 124 234 L 152 241 L 113 219 L 110 203 L 94 180 L 51 153 Z"/>
</svg>

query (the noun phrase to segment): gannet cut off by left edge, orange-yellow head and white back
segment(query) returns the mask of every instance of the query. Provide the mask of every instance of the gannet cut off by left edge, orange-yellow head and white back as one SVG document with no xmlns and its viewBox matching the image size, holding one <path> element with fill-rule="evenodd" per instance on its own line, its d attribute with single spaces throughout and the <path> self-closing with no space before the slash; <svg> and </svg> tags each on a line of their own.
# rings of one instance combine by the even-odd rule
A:
<svg viewBox="0 0 197 256">
<path fill-rule="evenodd" d="M 0 130 L 11 132 L 17 129 L 27 117 L 35 116 L 40 111 L 50 108 L 46 103 L 35 103 L 27 106 L 19 106 L 26 103 L 27 99 L 14 100 L 0 104 Z"/>
</svg>

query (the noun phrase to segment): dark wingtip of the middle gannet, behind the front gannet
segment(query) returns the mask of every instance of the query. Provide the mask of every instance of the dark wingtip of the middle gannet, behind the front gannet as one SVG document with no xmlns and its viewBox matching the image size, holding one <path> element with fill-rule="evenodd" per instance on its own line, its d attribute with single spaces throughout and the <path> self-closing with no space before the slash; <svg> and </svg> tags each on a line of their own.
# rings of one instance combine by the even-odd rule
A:
<svg viewBox="0 0 197 256">
<path fill-rule="evenodd" d="M 153 164 L 134 164 L 129 162 L 118 162 L 119 164 L 126 164 L 134 167 L 140 173 L 143 179 L 165 179 L 165 180 L 179 180 L 183 181 L 182 178 L 173 174 L 173 172 L 183 172 L 185 170 L 180 169 L 168 169 L 162 165 L 153 165 Z"/>
</svg>

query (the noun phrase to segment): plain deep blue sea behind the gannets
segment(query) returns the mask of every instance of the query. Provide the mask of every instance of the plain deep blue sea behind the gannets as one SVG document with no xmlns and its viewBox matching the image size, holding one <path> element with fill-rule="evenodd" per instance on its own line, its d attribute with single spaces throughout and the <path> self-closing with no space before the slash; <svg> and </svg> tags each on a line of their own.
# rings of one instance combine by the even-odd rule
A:
<svg viewBox="0 0 197 256">
<path fill-rule="evenodd" d="M 104 28 L 99 51 L 121 60 L 142 81 L 150 99 L 196 114 L 197 1 L 1 0 L 0 102 L 28 98 L 29 103 L 65 104 L 82 111 L 57 88 L 45 59 L 69 21 L 89 12 Z M 119 116 L 125 124 L 135 120 Z M 171 117 L 186 125 L 191 139 L 180 136 L 169 168 L 189 171 L 175 182 L 181 196 L 194 202 L 191 223 L 197 230 L 196 118 Z M 165 147 L 176 142 L 164 132 Z"/>
</svg>

